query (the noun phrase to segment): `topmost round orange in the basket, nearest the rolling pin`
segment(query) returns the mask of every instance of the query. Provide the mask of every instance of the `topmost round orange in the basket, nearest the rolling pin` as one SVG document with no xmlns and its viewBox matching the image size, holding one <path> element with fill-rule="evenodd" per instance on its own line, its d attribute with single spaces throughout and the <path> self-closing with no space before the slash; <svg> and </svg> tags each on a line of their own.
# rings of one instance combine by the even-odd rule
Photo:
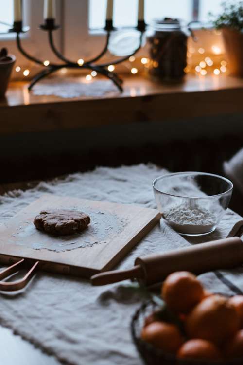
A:
<svg viewBox="0 0 243 365">
<path fill-rule="evenodd" d="M 204 289 L 195 275 L 180 271 L 166 278 L 162 297 L 172 311 L 188 313 L 203 299 Z"/>
</svg>

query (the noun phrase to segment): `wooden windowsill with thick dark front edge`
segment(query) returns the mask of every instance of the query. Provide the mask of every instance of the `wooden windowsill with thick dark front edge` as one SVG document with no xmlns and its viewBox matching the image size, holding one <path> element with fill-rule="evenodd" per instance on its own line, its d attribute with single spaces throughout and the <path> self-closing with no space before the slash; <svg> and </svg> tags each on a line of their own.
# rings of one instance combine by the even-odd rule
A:
<svg viewBox="0 0 243 365">
<path fill-rule="evenodd" d="M 36 96 L 14 82 L 0 102 L 0 134 L 95 127 L 109 124 L 191 119 L 243 112 L 243 79 L 187 75 L 177 85 L 124 77 L 124 92 L 62 99 Z"/>
</svg>

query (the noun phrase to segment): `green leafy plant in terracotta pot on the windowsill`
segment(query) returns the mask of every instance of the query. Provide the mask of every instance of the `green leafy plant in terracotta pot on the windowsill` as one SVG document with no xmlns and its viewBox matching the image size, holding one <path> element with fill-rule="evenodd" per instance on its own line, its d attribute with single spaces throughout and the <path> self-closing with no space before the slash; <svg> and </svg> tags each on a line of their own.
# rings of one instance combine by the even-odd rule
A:
<svg viewBox="0 0 243 365">
<path fill-rule="evenodd" d="M 222 30 L 230 73 L 243 76 L 243 1 L 223 2 L 222 7 L 213 24 Z"/>
</svg>

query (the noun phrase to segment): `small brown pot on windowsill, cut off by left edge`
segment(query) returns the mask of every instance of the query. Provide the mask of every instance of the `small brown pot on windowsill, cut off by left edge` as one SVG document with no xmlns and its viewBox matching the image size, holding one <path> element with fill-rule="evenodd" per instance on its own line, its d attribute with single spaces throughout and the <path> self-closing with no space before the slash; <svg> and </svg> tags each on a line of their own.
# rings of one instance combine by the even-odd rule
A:
<svg viewBox="0 0 243 365">
<path fill-rule="evenodd" d="M 7 91 L 15 61 L 16 57 L 14 55 L 8 55 L 6 48 L 0 50 L 0 98 L 4 97 Z"/>
</svg>

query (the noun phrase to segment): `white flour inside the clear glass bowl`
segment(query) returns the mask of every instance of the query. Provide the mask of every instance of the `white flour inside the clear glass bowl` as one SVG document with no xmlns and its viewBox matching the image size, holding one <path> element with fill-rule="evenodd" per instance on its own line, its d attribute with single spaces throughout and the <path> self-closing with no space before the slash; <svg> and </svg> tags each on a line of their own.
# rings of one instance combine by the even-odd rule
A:
<svg viewBox="0 0 243 365">
<path fill-rule="evenodd" d="M 172 228 L 184 234 L 203 234 L 210 232 L 216 225 L 216 217 L 208 209 L 185 204 L 176 205 L 163 212 Z"/>
</svg>

